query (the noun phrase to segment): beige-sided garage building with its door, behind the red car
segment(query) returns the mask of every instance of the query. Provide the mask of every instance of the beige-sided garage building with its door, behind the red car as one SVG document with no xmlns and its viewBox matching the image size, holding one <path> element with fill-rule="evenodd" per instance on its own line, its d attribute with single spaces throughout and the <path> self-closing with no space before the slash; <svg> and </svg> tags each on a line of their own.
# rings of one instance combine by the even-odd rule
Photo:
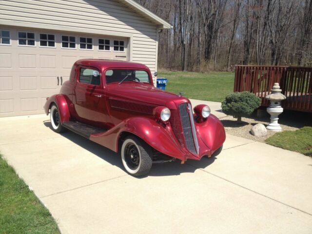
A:
<svg viewBox="0 0 312 234">
<path fill-rule="evenodd" d="M 156 71 L 158 33 L 169 23 L 132 0 L 72 3 L 0 3 L 0 117 L 43 113 L 78 59 L 134 61 Z"/>
</svg>

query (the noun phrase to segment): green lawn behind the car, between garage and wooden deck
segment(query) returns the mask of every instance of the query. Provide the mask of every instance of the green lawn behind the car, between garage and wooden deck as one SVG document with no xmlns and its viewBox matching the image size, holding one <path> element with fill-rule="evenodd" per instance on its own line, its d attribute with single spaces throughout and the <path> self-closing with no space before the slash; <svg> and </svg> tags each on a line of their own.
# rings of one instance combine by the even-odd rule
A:
<svg viewBox="0 0 312 234">
<path fill-rule="evenodd" d="M 192 99 L 223 101 L 233 93 L 234 73 L 231 72 L 172 72 L 159 71 L 158 78 L 168 78 L 166 91 Z"/>
</svg>

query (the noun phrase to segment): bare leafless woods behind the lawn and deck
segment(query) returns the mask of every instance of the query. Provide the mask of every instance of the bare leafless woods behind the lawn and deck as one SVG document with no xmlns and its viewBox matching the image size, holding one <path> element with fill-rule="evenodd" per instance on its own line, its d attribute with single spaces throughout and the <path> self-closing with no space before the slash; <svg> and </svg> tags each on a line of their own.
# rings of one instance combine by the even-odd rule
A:
<svg viewBox="0 0 312 234">
<path fill-rule="evenodd" d="M 158 68 L 312 66 L 312 0 L 137 2 L 173 26 L 159 34 Z"/>
</svg>

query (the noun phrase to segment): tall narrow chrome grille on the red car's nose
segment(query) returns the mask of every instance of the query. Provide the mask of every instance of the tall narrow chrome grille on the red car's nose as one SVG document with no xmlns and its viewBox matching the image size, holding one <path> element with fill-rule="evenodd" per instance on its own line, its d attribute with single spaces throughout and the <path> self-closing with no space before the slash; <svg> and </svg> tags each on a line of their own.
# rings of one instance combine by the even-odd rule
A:
<svg viewBox="0 0 312 234">
<path fill-rule="evenodd" d="M 187 110 L 189 109 L 189 111 Z M 182 131 L 184 134 L 186 148 L 193 154 L 198 154 L 198 141 L 196 137 L 192 106 L 190 103 L 183 103 L 179 106 Z"/>
</svg>

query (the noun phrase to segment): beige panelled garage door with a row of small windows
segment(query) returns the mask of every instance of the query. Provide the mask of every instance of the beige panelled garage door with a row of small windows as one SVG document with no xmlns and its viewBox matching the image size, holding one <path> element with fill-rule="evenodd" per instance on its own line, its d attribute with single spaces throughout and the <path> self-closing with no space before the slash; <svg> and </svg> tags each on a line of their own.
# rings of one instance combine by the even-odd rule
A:
<svg viewBox="0 0 312 234">
<path fill-rule="evenodd" d="M 0 26 L 0 117 L 43 113 L 78 59 L 127 60 L 126 38 Z"/>
</svg>

